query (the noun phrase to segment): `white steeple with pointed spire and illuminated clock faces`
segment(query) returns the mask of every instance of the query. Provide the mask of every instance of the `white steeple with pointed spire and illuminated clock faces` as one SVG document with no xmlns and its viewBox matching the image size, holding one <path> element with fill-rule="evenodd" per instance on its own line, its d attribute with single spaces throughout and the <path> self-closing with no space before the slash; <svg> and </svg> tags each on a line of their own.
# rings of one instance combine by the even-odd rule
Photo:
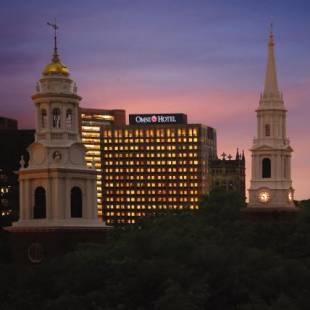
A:
<svg viewBox="0 0 310 310">
<path fill-rule="evenodd" d="M 268 42 L 268 61 L 264 91 L 256 110 L 257 136 L 252 152 L 250 208 L 294 209 L 291 179 L 290 141 L 286 136 L 286 107 L 279 91 L 272 31 Z"/>
</svg>

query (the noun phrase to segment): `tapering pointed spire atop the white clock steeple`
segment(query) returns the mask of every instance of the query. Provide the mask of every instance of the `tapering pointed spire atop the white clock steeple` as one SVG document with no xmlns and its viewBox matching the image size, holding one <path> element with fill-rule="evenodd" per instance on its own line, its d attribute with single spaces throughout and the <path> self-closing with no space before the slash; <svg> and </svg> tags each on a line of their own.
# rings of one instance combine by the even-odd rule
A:
<svg viewBox="0 0 310 310">
<path fill-rule="evenodd" d="M 270 25 L 269 41 L 268 41 L 268 60 L 265 78 L 264 96 L 279 96 L 279 88 L 277 81 L 276 62 L 274 57 L 274 38 L 272 24 Z"/>
</svg>

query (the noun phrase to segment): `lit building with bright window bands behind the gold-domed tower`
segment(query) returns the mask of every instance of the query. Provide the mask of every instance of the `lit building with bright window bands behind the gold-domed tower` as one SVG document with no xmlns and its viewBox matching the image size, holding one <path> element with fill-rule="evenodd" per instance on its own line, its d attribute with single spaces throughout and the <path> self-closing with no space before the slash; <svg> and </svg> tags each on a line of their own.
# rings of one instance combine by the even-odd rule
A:
<svg viewBox="0 0 310 310">
<path fill-rule="evenodd" d="M 125 125 L 124 110 L 102 110 L 80 108 L 81 137 L 86 147 L 87 166 L 95 164 L 97 171 L 98 216 L 102 217 L 102 137 L 106 126 Z"/>
</svg>

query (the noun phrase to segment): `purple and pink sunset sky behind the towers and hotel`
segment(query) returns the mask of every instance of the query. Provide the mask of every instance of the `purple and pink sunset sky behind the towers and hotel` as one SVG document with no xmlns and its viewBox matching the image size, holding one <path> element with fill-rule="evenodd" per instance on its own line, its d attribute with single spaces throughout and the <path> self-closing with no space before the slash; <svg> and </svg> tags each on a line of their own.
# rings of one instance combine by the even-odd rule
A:
<svg viewBox="0 0 310 310">
<path fill-rule="evenodd" d="M 0 116 L 34 127 L 56 18 L 81 106 L 186 113 L 216 128 L 219 155 L 245 150 L 248 187 L 272 22 L 295 197 L 310 198 L 309 12 L 307 0 L 2 0 Z"/>
</svg>

